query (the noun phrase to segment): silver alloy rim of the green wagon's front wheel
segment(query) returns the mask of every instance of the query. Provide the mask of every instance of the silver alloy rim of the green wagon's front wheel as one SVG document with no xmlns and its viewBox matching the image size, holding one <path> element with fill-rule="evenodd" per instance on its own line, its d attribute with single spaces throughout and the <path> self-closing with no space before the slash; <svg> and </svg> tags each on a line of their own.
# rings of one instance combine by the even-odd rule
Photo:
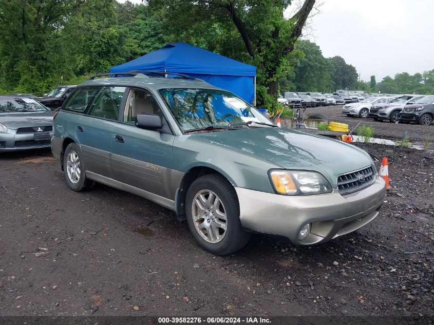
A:
<svg viewBox="0 0 434 325">
<path fill-rule="evenodd" d="M 220 198 L 211 190 L 203 189 L 193 199 L 192 218 L 200 237 L 209 243 L 218 243 L 226 235 L 228 220 Z"/>
</svg>

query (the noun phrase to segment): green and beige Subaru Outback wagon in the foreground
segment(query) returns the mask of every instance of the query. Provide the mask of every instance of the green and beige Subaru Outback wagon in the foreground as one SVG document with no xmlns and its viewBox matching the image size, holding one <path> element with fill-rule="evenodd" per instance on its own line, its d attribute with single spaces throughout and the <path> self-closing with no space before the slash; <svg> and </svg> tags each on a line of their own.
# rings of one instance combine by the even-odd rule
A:
<svg viewBox="0 0 434 325">
<path fill-rule="evenodd" d="M 70 189 L 96 181 L 154 201 L 218 255 L 251 233 L 326 242 L 379 214 L 385 183 L 365 151 L 277 127 L 201 80 L 108 77 L 79 85 L 55 114 L 51 148 Z"/>
</svg>

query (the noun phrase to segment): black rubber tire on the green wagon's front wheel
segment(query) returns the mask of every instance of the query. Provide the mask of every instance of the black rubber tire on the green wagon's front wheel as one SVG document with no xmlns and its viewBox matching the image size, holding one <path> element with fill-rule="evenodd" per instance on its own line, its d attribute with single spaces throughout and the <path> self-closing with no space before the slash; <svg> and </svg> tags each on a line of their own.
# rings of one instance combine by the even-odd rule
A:
<svg viewBox="0 0 434 325">
<path fill-rule="evenodd" d="M 211 243 L 202 238 L 193 220 L 193 200 L 202 190 L 214 192 L 220 199 L 224 207 L 224 213 L 226 214 L 227 228 L 225 234 L 223 238 L 216 243 Z M 248 243 L 251 234 L 242 229 L 239 219 L 240 212 L 237 194 L 231 183 L 224 177 L 218 174 L 208 174 L 196 179 L 190 188 L 188 188 L 185 209 L 188 228 L 190 228 L 190 232 L 197 244 L 205 251 L 224 256 L 240 250 Z M 203 222 L 205 222 L 205 220 Z"/>
</svg>

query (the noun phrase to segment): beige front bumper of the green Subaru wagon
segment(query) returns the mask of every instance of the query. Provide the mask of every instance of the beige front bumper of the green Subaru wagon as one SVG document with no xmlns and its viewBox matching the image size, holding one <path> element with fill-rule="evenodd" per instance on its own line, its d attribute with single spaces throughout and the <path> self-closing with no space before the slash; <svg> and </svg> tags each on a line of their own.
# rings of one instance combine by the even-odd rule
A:
<svg viewBox="0 0 434 325">
<path fill-rule="evenodd" d="M 357 192 L 341 195 L 332 193 L 311 196 L 283 196 L 235 188 L 240 205 L 240 220 L 244 228 L 288 238 L 298 245 L 326 242 L 351 233 L 372 221 L 386 196 L 382 178 Z M 298 234 L 307 223 L 311 233 L 299 240 Z"/>
</svg>

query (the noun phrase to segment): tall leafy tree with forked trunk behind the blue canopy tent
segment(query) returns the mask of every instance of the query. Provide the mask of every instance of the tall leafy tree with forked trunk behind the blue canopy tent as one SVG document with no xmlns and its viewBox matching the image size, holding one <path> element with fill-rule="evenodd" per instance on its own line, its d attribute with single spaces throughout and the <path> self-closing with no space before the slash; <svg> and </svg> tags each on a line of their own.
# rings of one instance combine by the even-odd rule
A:
<svg viewBox="0 0 434 325">
<path fill-rule="evenodd" d="M 271 108 L 276 102 L 278 79 L 285 71 L 288 55 L 294 50 L 315 0 L 305 0 L 290 19 L 284 17 L 290 0 L 148 0 L 148 4 L 164 9 L 166 26 L 174 35 L 200 28 L 196 39 L 200 36 L 206 39 L 206 33 L 218 26 L 221 34 L 232 36 L 230 41 L 236 46 L 242 42 L 243 52 L 249 55 L 247 63 L 258 69 L 258 104 Z M 232 56 L 231 52 L 221 54 Z"/>
</svg>

